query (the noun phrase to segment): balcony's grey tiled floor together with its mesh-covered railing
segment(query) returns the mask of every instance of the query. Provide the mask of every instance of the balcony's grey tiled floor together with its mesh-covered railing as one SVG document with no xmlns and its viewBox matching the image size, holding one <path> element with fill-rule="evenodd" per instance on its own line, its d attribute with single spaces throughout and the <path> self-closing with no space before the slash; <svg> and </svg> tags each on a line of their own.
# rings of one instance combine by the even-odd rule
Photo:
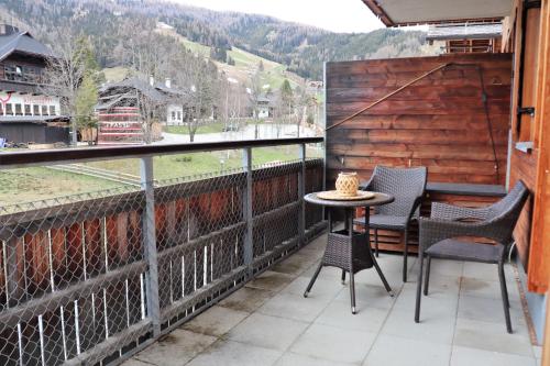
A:
<svg viewBox="0 0 550 366">
<path fill-rule="evenodd" d="M 515 267 L 506 266 L 514 334 L 497 273 L 432 264 L 422 322 L 414 322 L 418 265 L 402 256 L 348 282 L 326 267 L 302 293 L 326 245 L 320 137 L 100 147 L 0 155 L 8 169 L 133 158 L 139 187 L 2 207 L 2 365 L 535 365 Z M 297 147 L 295 159 L 254 165 L 255 148 Z M 156 179 L 158 158 L 240 151 L 242 166 Z M 118 179 L 130 179 L 119 176 Z M 141 189 L 140 189 L 141 188 Z"/>
</svg>

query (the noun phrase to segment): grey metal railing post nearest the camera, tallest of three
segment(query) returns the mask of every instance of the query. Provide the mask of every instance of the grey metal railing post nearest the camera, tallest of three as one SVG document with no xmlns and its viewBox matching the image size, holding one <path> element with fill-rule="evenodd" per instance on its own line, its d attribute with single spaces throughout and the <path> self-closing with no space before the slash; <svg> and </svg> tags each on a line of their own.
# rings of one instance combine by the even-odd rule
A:
<svg viewBox="0 0 550 366">
<path fill-rule="evenodd" d="M 153 336 L 161 334 L 161 306 L 158 302 L 158 260 L 155 232 L 155 188 L 153 176 L 153 157 L 141 158 L 141 189 L 145 192 L 145 210 L 143 212 L 143 248 L 148 270 L 146 273 L 145 291 L 147 314 L 153 323 Z"/>
</svg>

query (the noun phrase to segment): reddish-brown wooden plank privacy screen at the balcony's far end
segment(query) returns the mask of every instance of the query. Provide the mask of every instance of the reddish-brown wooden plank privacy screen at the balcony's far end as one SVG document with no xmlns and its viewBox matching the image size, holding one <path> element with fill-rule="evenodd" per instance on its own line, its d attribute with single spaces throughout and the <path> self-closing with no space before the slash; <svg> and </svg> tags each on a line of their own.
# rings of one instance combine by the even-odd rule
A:
<svg viewBox="0 0 550 366">
<path fill-rule="evenodd" d="M 327 132 L 328 187 L 344 170 L 358 171 L 366 180 L 376 165 L 424 165 L 429 181 L 505 184 L 509 54 L 328 63 L 327 126 L 446 63 L 454 65 Z"/>
</svg>

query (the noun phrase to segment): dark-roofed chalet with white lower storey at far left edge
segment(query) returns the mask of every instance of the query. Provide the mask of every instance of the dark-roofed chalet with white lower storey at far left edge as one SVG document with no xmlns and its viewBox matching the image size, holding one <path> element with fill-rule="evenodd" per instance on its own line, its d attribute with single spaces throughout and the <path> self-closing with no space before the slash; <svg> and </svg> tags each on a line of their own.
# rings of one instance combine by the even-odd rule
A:
<svg viewBox="0 0 550 366">
<path fill-rule="evenodd" d="M 14 143 L 67 143 L 59 98 L 45 95 L 44 69 L 54 54 L 29 32 L 0 25 L 0 137 Z"/>
</svg>

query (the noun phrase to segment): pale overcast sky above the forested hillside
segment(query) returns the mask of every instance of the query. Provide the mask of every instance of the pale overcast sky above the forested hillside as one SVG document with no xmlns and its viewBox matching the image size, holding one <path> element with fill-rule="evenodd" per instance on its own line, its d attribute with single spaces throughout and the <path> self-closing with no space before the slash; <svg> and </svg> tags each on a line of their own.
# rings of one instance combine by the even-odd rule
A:
<svg viewBox="0 0 550 366">
<path fill-rule="evenodd" d="M 272 15 L 333 32 L 370 32 L 383 27 L 361 0 L 172 0 L 213 10 Z"/>
</svg>

